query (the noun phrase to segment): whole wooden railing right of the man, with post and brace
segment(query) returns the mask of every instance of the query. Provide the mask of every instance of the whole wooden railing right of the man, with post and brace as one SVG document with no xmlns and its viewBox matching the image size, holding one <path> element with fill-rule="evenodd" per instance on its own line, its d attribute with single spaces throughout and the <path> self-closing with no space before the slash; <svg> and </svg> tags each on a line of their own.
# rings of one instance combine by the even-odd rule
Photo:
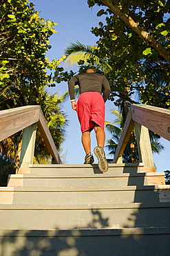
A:
<svg viewBox="0 0 170 256">
<path fill-rule="evenodd" d="M 170 110 L 145 104 L 132 104 L 129 108 L 129 113 L 116 149 L 116 154 L 114 155 L 113 163 L 122 162 L 123 152 L 134 127 L 136 131 L 139 161 L 144 163 L 145 167 L 153 167 L 153 156 L 148 129 L 170 140 Z"/>
</svg>

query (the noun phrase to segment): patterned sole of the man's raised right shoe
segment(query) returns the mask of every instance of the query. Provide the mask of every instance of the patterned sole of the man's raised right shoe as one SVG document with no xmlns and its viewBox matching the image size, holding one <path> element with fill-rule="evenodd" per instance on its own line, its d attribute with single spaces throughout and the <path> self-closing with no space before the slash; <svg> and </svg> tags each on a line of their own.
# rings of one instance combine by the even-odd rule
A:
<svg viewBox="0 0 170 256">
<path fill-rule="evenodd" d="M 98 168 L 101 172 L 107 172 L 108 170 L 108 163 L 105 158 L 105 152 L 102 147 L 95 147 L 94 154 L 98 158 Z"/>
</svg>

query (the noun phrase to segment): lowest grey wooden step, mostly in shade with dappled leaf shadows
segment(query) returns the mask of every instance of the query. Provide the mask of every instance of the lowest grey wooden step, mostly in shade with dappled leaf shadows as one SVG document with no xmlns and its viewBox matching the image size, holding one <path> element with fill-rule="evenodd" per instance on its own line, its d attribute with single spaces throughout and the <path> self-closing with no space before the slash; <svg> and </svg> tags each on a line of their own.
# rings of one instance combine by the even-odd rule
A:
<svg viewBox="0 0 170 256">
<path fill-rule="evenodd" d="M 0 230 L 0 255 L 169 256 L 170 228 Z"/>
</svg>

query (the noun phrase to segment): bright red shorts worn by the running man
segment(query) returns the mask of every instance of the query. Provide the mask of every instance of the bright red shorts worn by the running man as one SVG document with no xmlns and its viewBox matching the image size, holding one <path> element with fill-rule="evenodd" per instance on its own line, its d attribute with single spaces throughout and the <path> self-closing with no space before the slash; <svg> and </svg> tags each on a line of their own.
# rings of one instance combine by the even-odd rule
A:
<svg viewBox="0 0 170 256">
<path fill-rule="evenodd" d="M 105 102 L 103 96 L 96 91 L 81 93 L 76 105 L 81 132 L 94 129 L 94 122 L 104 129 Z"/>
</svg>

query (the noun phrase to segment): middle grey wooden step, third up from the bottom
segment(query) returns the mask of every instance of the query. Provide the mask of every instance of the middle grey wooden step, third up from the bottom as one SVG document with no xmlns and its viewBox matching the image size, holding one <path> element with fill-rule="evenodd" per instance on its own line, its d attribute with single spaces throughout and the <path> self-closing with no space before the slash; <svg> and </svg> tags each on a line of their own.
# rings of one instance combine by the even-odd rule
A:
<svg viewBox="0 0 170 256">
<path fill-rule="evenodd" d="M 12 190 L 12 188 L 11 188 Z M 2 191 L 4 194 L 4 189 Z M 6 188 L 6 195 L 11 191 Z M 9 197 L 9 196 L 8 196 Z M 0 191 L 0 201 L 1 196 Z M 21 204 L 92 204 L 169 202 L 170 185 L 105 186 L 67 188 L 14 188 L 12 203 Z"/>
</svg>

